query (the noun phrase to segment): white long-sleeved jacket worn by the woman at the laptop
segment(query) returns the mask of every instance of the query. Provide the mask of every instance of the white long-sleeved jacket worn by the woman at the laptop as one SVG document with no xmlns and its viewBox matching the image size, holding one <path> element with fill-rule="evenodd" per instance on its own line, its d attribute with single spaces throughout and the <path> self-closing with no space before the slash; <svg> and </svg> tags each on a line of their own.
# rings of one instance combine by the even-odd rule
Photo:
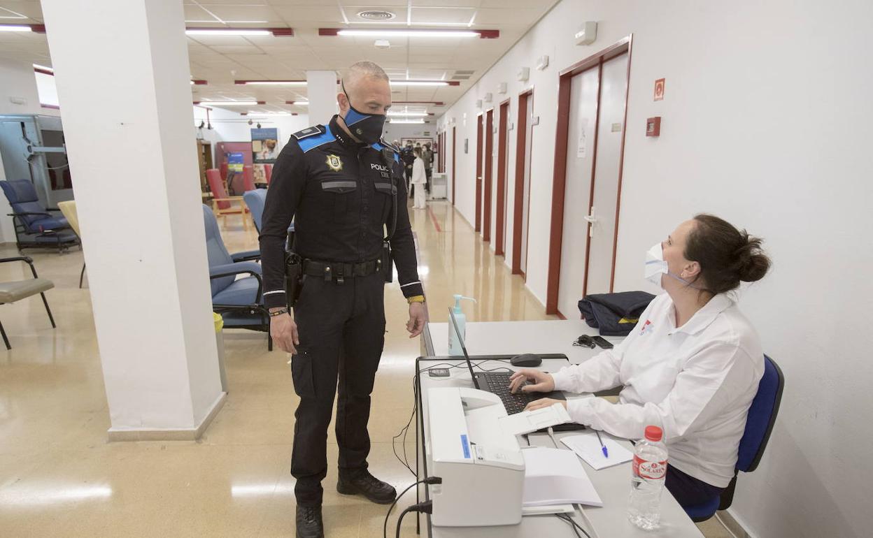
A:
<svg viewBox="0 0 873 538">
<path fill-rule="evenodd" d="M 553 374 L 555 389 L 596 392 L 623 385 L 618 404 L 567 401 L 575 422 L 626 439 L 661 426 L 670 465 L 726 487 L 746 414 L 764 374 L 758 334 L 729 296 L 712 297 L 682 327 L 670 296 L 657 296 L 622 344 Z"/>
</svg>

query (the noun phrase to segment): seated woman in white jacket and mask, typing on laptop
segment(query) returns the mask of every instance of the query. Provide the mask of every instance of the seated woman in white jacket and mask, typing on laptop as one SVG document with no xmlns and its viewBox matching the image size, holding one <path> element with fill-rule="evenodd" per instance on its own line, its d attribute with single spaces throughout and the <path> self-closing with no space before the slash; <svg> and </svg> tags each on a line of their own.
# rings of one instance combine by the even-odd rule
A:
<svg viewBox="0 0 873 538">
<path fill-rule="evenodd" d="M 625 439 L 660 426 L 669 451 L 666 486 L 680 505 L 720 494 L 733 478 L 746 414 L 764 373 L 760 338 L 728 292 L 770 268 L 760 239 L 697 215 L 646 253 L 645 276 L 666 293 L 615 349 L 554 374 L 520 370 L 512 392 L 623 389 L 560 402 L 575 422 Z M 530 385 L 524 385 L 529 381 Z M 538 409 L 557 400 L 542 398 Z"/>
</svg>

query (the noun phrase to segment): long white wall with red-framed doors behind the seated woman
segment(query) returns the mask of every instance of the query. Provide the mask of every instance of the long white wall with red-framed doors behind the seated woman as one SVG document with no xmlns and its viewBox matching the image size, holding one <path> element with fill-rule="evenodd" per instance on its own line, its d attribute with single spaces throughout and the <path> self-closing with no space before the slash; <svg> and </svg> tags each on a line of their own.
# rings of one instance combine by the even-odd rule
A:
<svg viewBox="0 0 873 538">
<path fill-rule="evenodd" d="M 633 33 L 615 289 L 645 287 L 645 249 L 702 211 L 764 237 L 773 256 L 773 272 L 741 305 L 786 390 L 764 460 L 739 477 L 731 508 L 761 537 L 862 536 L 873 525 L 873 337 L 864 321 L 873 307 L 873 72 L 853 52 L 870 50 L 871 19 L 873 5 L 860 1 L 565 0 L 441 119 L 457 120 L 457 208 L 472 221 L 473 101 L 507 82 L 514 118 L 518 92 L 534 86 L 527 283 L 542 300 L 558 72 Z M 598 21 L 598 40 L 574 45 L 585 20 Z M 538 72 L 542 54 L 550 65 Z M 532 68 L 527 85 L 514 80 L 520 66 Z M 647 139 L 645 119 L 656 115 L 661 136 Z"/>
</svg>

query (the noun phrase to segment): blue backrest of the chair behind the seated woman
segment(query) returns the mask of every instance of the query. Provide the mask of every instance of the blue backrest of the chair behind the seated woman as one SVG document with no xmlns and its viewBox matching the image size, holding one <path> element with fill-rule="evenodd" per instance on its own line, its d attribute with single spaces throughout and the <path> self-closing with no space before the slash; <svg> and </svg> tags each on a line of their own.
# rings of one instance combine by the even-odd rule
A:
<svg viewBox="0 0 873 538">
<path fill-rule="evenodd" d="M 737 470 L 750 473 L 758 467 L 779 413 L 784 386 L 785 377 L 779 365 L 765 355 L 764 375 L 758 384 L 758 393 L 749 407 L 746 431 L 743 432 L 743 438 L 739 439 Z"/>
</svg>

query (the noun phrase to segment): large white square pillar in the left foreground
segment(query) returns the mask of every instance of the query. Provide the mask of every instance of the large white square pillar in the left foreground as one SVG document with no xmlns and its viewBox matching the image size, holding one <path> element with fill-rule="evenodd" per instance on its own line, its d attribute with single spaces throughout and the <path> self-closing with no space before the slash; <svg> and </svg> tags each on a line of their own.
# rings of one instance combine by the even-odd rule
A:
<svg viewBox="0 0 873 538">
<path fill-rule="evenodd" d="M 193 439 L 224 394 L 182 3 L 42 7 L 76 178 L 109 437 Z"/>
</svg>

